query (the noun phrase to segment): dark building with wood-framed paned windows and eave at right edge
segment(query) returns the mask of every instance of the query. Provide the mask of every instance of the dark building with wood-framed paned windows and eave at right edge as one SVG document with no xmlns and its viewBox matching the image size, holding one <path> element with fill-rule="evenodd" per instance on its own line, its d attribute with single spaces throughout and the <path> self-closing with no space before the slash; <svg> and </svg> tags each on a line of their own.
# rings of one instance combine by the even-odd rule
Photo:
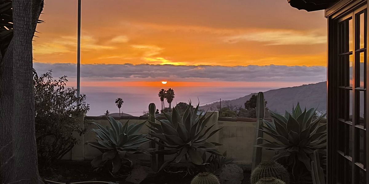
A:
<svg viewBox="0 0 369 184">
<path fill-rule="evenodd" d="M 328 184 L 369 184 L 368 0 L 287 0 L 325 11 Z"/>
</svg>

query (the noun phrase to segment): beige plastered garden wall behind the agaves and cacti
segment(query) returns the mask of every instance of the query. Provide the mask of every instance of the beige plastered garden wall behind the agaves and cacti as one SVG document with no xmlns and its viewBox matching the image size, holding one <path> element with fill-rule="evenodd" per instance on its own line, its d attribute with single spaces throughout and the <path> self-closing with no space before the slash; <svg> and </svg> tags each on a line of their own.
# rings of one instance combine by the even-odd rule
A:
<svg viewBox="0 0 369 184">
<path fill-rule="evenodd" d="M 207 116 L 210 113 L 206 114 Z M 127 122 L 128 118 L 130 118 L 130 124 L 132 123 L 142 123 L 147 120 L 147 117 L 114 117 L 116 120 L 121 123 Z M 164 117 L 161 117 L 164 118 Z M 85 117 L 87 122 L 95 122 L 103 125 L 104 127 L 110 126 L 106 117 Z M 219 127 L 224 127 L 219 132 L 213 135 L 210 138 L 210 142 L 219 142 L 223 144 L 223 146 L 219 146 L 219 150 L 223 153 L 227 151 L 227 155 L 231 158 L 234 158 L 234 162 L 239 164 L 249 165 L 252 162 L 252 150 L 255 139 L 255 124 L 256 119 L 254 118 L 225 118 L 218 117 L 218 112 L 214 114 L 211 118 L 209 125 L 215 124 L 213 130 Z M 95 148 L 92 148 L 89 145 L 84 144 L 86 141 L 93 141 L 96 137 L 94 132 L 90 132 L 92 128 L 96 128 L 95 125 L 91 123 L 85 123 L 87 126 L 87 132 L 83 137 L 80 137 L 81 143 L 73 148 L 72 152 L 68 153 L 64 159 L 70 160 L 92 160 L 95 156 L 100 155 L 100 151 Z M 147 127 L 143 127 L 140 133 L 147 134 Z M 144 145 L 148 147 L 149 145 Z M 83 153 L 83 154 L 82 154 Z M 274 155 L 272 151 L 263 150 L 263 160 L 267 160 Z M 143 157 L 140 159 L 149 160 L 149 157 L 146 155 L 142 155 Z"/>
</svg>

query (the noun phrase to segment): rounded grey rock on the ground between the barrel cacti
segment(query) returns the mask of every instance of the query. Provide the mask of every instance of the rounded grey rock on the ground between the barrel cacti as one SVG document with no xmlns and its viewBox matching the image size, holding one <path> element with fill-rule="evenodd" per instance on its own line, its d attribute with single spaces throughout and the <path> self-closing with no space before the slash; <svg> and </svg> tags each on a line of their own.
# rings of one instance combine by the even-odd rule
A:
<svg viewBox="0 0 369 184">
<path fill-rule="evenodd" d="M 219 176 L 221 184 L 241 184 L 243 179 L 244 171 L 236 164 L 225 165 Z"/>
</svg>

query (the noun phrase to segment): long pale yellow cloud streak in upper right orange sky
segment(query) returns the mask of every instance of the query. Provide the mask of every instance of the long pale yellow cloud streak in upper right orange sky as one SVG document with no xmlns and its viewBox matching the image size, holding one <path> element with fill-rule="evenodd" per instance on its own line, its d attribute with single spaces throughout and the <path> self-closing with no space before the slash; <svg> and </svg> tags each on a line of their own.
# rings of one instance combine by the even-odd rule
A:
<svg viewBox="0 0 369 184">
<path fill-rule="evenodd" d="M 314 45 L 327 43 L 325 35 L 314 32 L 298 32 L 294 30 L 277 30 L 250 32 L 240 35 L 228 36 L 225 42 L 237 43 L 243 41 L 266 42 L 267 45 Z"/>
</svg>

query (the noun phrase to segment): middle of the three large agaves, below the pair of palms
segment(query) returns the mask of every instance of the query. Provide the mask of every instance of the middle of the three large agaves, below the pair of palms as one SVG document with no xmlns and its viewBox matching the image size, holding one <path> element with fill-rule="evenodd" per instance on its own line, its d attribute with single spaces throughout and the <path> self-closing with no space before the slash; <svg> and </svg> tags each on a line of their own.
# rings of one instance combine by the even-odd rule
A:
<svg viewBox="0 0 369 184">
<path fill-rule="evenodd" d="M 218 128 L 208 134 L 211 128 L 210 125 L 206 128 L 210 118 L 213 116 L 197 115 L 199 105 L 192 111 L 191 102 L 189 107 L 184 112 L 181 118 L 176 108 L 173 109 L 172 115 L 164 113 L 167 120 L 159 120 L 159 123 L 149 121 L 149 134 L 154 138 L 148 138 L 154 141 L 159 146 L 163 146 L 166 149 L 155 151 L 154 153 L 162 155 L 174 155 L 172 159 L 165 162 L 161 168 L 163 169 L 170 162 L 180 162 L 184 157 L 187 163 L 191 162 L 196 165 L 201 165 L 206 160 L 203 160 L 202 155 L 204 152 L 209 152 L 215 155 L 222 155 L 215 146 L 221 145 L 217 142 L 207 142 L 207 139 L 221 130 Z M 223 127 L 222 127 L 223 128 Z M 159 139 L 156 140 L 155 138 Z"/>
</svg>

